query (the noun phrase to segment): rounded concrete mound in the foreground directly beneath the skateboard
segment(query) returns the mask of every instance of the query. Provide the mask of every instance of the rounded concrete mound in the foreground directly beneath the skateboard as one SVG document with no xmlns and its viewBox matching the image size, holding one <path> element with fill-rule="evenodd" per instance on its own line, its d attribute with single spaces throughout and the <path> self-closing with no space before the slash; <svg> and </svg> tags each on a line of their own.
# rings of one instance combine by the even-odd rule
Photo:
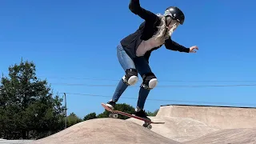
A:
<svg viewBox="0 0 256 144">
<path fill-rule="evenodd" d="M 134 122 L 117 118 L 96 118 L 70 126 L 31 144 L 180 144 Z"/>
</svg>

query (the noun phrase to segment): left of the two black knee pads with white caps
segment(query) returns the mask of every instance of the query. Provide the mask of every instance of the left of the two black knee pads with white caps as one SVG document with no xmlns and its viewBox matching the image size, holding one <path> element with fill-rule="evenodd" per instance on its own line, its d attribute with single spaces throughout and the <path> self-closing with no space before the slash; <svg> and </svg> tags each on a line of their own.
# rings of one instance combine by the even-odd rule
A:
<svg viewBox="0 0 256 144">
<path fill-rule="evenodd" d="M 122 77 L 122 81 L 128 86 L 135 85 L 138 82 L 138 72 L 136 69 L 127 69 L 126 74 Z"/>
</svg>

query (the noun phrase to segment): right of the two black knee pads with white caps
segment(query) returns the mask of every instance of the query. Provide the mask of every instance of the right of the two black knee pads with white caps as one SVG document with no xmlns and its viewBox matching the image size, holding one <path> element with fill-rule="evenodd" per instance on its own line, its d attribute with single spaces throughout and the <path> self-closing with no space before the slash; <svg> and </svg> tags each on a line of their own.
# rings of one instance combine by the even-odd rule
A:
<svg viewBox="0 0 256 144">
<path fill-rule="evenodd" d="M 158 84 L 158 79 L 155 77 L 153 73 L 143 74 L 142 78 L 143 82 L 141 87 L 144 89 L 152 90 Z"/>
</svg>

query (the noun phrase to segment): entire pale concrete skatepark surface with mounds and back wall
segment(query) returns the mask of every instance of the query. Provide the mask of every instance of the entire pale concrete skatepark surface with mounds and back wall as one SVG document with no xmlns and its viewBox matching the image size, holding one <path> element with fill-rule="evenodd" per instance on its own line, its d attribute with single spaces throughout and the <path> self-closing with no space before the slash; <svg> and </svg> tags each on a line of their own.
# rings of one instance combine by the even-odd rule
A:
<svg viewBox="0 0 256 144">
<path fill-rule="evenodd" d="M 255 108 L 170 105 L 160 106 L 158 114 L 150 118 L 165 123 L 152 124 L 149 130 L 134 118 L 96 118 L 26 143 L 256 143 Z"/>
</svg>

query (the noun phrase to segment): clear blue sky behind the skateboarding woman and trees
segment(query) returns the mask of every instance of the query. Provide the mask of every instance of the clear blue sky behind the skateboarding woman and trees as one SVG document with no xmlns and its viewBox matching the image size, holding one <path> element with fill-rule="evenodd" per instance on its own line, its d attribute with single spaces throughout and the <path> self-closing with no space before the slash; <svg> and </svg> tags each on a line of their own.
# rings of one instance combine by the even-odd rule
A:
<svg viewBox="0 0 256 144">
<path fill-rule="evenodd" d="M 110 100 L 124 74 L 116 46 L 142 22 L 128 9 L 129 2 L 1 1 L 0 72 L 7 74 L 8 66 L 21 58 L 33 61 L 38 78 L 47 78 L 54 93 L 67 93 L 68 114 L 74 112 L 82 118 L 90 112 L 102 113 L 100 103 Z M 197 54 L 166 50 L 164 46 L 154 51 L 150 66 L 159 83 L 150 92 L 146 110 L 172 103 L 255 106 L 249 104 L 256 100 L 256 86 L 216 86 L 256 84 L 255 2 L 140 2 L 154 13 L 163 13 L 167 6 L 180 7 L 186 20 L 173 39 L 199 48 Z M 139 84 L 129 87 L 119 102 L 136 106 Z M 198 85 L 203 87 L 186 87 Z"/>
</svg>

